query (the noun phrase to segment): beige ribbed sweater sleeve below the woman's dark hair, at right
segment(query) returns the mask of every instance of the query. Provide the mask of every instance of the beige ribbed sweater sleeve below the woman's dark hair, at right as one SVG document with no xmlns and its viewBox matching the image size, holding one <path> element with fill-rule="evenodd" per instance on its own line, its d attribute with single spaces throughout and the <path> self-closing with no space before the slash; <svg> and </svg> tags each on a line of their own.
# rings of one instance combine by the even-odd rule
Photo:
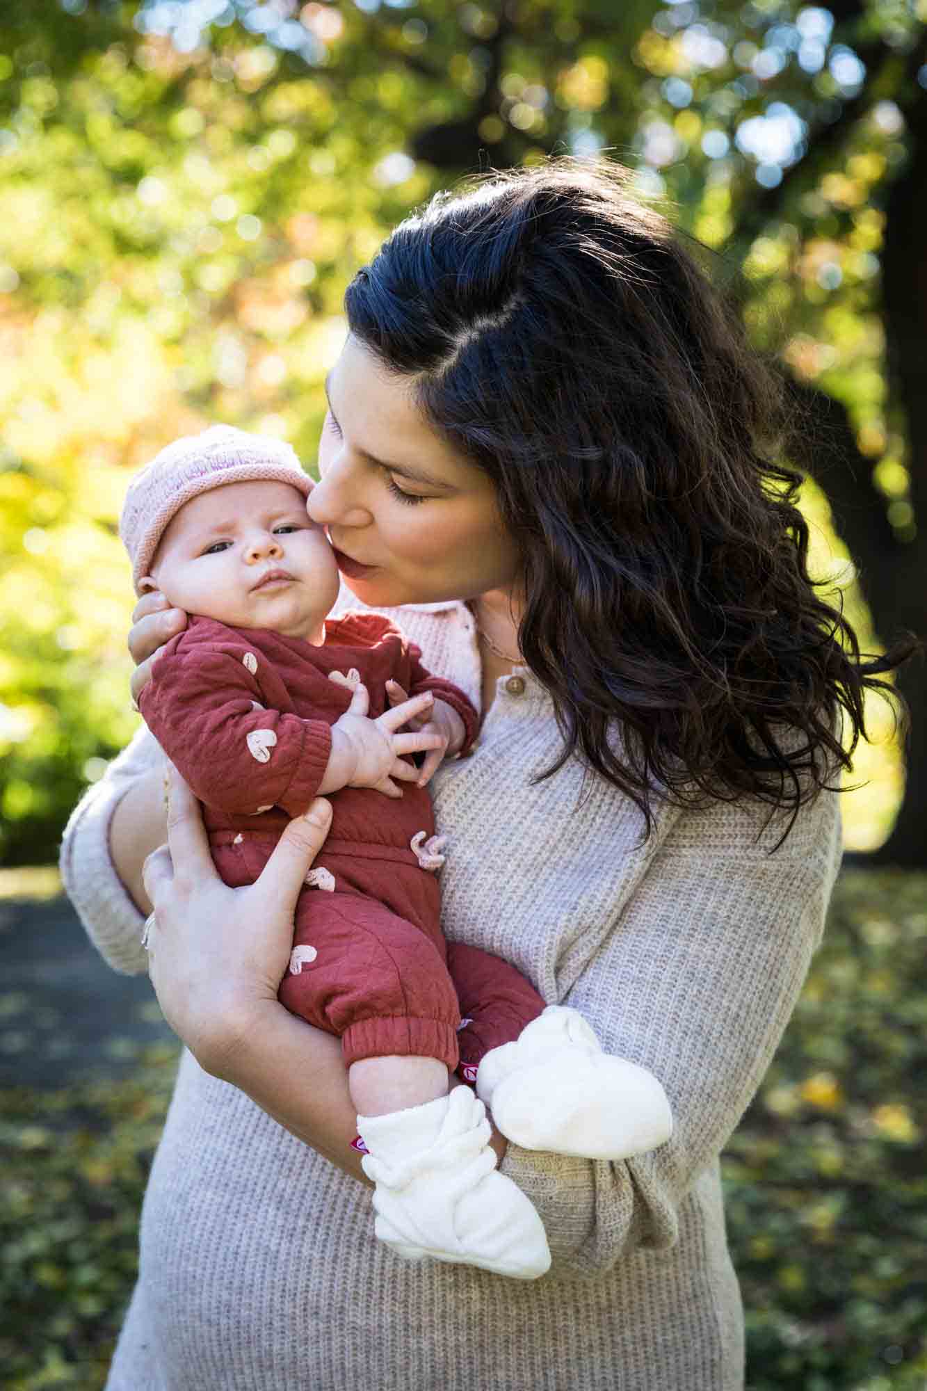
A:
<svg viewBox="0 0 927 1391">
<path fill-rule="evenodd" d="M 760 849 L 754 832 L 736 804 L 682 815 L 560 1002 L 649 1068 L 674 1113 L 667 1143 L 622 1161 L 509 1145 L 502 1173 L 537 1207 L 560 1270 L 594 1276 L 675 1245 L 682 1205 L 772 1060 L 839 869 L 838 796 L 803 808 L 771 857 L 778 836 Z"/>
</svg>

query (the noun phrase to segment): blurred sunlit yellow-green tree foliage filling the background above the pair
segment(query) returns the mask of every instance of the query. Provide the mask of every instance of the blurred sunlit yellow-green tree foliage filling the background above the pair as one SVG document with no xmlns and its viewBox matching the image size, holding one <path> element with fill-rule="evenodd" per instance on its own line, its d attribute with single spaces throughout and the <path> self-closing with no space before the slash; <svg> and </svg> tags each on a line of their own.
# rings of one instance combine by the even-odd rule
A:
<svg viewBox="0 0 927 1391">
<path fill-rule="evenodd" d="M 906 346 L 927 312 L 921 11 L 3 7 L 0 857 L 50 858 L 82 779 L 134 727 L 114 538 L 125 467 L 213 419 L 285 434 L 310 459 L 347 278 L 411 206 L 489 163 L 604 147 L 721 275 L 743 271 L 754 342 L 821 423 L 799 460 L 823 490 L 806 488 L 807 513 L 824 537 L 832 501 L 880 634 L 927 632 L 926 423 Z M 821 540 L 818 570 L 871 644 L 841 548 Z M 898 684 L 927 708 L 923 672 Z M 884 729 L 881 704 L 869 709 Z M 881 851 L 898 862 L 924 858 L 926 740 L 914 721 L 908 798 Z M 873 783 L 848 840 L 870 849 L 899 800 L 898 750 L 863 747 L 856 771 Z"/>
</svg>

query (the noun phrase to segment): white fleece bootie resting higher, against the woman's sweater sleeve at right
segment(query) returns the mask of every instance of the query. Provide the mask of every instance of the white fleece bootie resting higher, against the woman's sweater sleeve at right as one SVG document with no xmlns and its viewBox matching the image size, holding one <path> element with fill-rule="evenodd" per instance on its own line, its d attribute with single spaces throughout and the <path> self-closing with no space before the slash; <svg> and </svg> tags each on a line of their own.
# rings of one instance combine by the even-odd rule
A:
<svg viewBox="0 0 927 1391">
<path fill-rule="evenodd" d="M 476 1092 L 502 1135 L 523 1149 L 631 1159 L 672 1134 L 670 1100 L 653 1072 L 603 1053 L 582 1014 L 561 1004 L 483 1057 Z"/>
</svg>

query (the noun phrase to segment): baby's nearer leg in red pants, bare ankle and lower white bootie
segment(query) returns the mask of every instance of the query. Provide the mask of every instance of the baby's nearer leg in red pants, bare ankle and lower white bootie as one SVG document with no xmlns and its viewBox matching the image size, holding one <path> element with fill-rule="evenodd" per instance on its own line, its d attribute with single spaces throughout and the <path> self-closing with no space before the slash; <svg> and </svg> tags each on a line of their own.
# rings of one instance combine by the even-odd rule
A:
<svg viewBox="0 0 927 1391">
<path fill-rule="evenodd" d="M 308 899 L 303 903 L 303 899 Z M 459 1008 L 436 944 L 374 899 L 319 892 L 298 904 L 280 997 L 341 1035 L 376 1234 L 409 1260 L 533 1280 L 550 1264 L 532 1202 L 496 1168 L 486 1109 L 448 1093 Z"/>
</svg>

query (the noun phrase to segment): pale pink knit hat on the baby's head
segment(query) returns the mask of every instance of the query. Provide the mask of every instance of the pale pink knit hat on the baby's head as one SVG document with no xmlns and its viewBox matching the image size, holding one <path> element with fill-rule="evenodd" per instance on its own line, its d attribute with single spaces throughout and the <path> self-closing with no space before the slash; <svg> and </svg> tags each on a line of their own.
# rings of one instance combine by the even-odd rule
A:
<svg viewBox="0 0 927 1391">
<path fill-rule="evenodd" d="M 291 445 L 234 426 L 210 426 L 202 434 L 174 440 L 139 469 L 129 483 L 120 517 L 135 593 L 142 593 L 139 580 L 149 573 L 168 522 L 185 502 L 225 483 L 255 479 L 290 483 L 305 497 L 312 491 L 312 479 Z"/>
</svg>

